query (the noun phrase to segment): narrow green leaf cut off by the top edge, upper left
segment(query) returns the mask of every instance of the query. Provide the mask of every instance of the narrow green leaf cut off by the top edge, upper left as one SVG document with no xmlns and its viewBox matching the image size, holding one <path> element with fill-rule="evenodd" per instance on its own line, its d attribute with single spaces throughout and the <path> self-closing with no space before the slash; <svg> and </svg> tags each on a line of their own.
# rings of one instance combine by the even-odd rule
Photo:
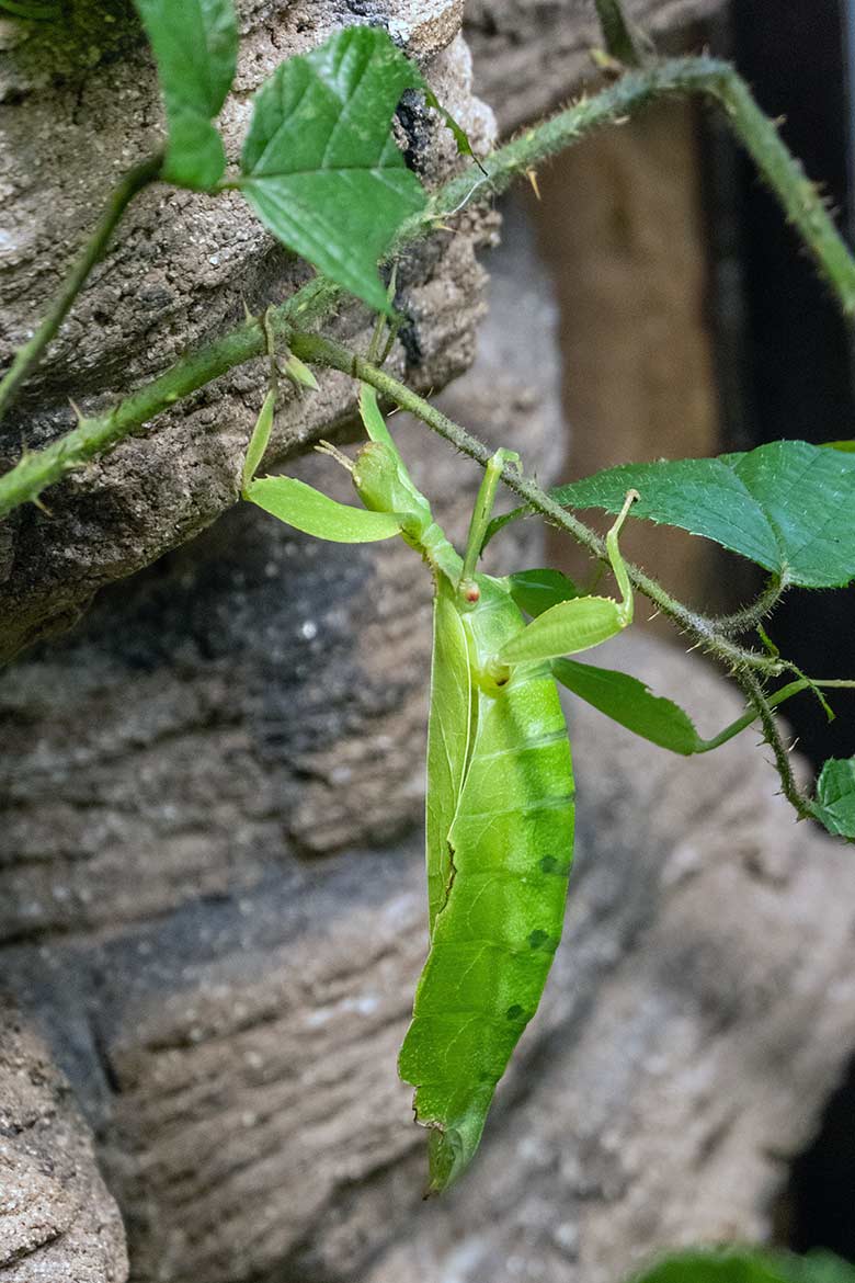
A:
<svg viewBox="0 0 855 1283">
<path fill-rule="evenodd" d="M 226 168 L 212 124 L 232 87 L 237 19 L 232 0 L 135 0 L 158 63 L 169 142 L 163 177 L 179 187 L 213 187 Z"/>
</svg>

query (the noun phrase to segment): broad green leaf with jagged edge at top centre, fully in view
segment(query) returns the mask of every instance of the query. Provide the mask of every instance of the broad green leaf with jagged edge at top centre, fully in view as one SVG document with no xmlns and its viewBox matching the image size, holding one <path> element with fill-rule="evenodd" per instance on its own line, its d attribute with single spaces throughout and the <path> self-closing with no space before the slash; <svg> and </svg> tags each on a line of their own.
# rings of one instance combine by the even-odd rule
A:
<svg viewBox="0 0 855 1283">
<path fill-rule="evenodd" d="M 390 313 L 377 262 L 424 205 L 390 122 L 422 73 L 378 27 L 290 58 L 255 95 L 241 190 L 261 222 L 331 280 Z"/>
</svg>

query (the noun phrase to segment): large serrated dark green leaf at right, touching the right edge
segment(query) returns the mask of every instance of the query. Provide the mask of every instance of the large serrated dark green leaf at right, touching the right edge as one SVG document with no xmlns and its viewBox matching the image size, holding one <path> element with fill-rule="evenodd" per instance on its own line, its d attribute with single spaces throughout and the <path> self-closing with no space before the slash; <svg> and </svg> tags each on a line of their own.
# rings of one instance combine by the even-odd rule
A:
<svg viewBox="0 0 855 1283">
<path fill-rule="evenodd" d="M 773 441 L 718 459 L 629 463 L 559 486 L 570 508 L 619 512 L 714 539 L 801 588 L 841 588 L 855 576 L 855 457 L 806 441 Z M 517 509 L 497 518 L 488 538 Z"/>
</svg>

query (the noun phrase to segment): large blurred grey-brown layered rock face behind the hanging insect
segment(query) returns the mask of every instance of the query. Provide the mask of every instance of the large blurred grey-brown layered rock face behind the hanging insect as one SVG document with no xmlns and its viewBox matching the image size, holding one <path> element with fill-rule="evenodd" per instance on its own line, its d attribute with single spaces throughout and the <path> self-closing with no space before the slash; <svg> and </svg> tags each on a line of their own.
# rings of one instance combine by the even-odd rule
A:
<svg viewBox="0 0 855 1283">
<path fill-rule="evenodd" d="M 513 219 L 501 262 L 446 405 L 546 480 L 555 314 Z M 459 536 L 474 470 L 395 423 Z M 517 529 L 494 554 L 536 563 Z M 573 704 L 565 940 L 477 1165 L 422 1202 L 395 1053 L 426 946 L 428 598 L 403 545 L 241 509 L 0 685 L 0 961 L 140 1283 L 617 1283 L 674 1239 L 763 1237 L 855 1047 L 846 849 L 793 825 L 751 736 L 686 762 Z M 610 658 L 704 731 L 738 707 L 696 657 Z"/>
</svg>

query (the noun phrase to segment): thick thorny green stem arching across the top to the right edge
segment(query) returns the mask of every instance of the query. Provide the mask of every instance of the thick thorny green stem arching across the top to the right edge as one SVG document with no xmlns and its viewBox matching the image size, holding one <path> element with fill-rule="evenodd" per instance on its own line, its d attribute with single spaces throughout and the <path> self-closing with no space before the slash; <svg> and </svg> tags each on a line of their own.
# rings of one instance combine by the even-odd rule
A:
<svg viewBox="0 0 855 1283">
<path fill-rule="evenodd" d="M 778 196 L 788 219 L 800 231 L 842 310 L 847 316 L 855 314 L 855 259 L 838 235 L 820 195 L 781 141 L 773 122 L 760 112 L 733 67 L 711 58 L 674 58 L 629 72 L 595 98 L 582 99 L 541 124 L 526 130 L 487 157 L 482 166 L 485 173 L 474 181 L 469 169 L 440 187 L 428 209 L 401 227 L 390 257 L 428 235 L 452 213 L 504 191 L 515 176 L 556 155 L 595 130 L 626 119 L 656 98 L 679 94 L 700 94 L 723 106 L 735 133 Z M 56 314 L 62 321 L 79 284 L 79 275 L 69 278 L 62 295 L 64 309 L 55 305 L 51 316 Z M 320 323 L 338 305 L 341 296 L 341 290 L 318 277 L 286 303 L 273 308 L 268 313 L 269 326 L 278 335 L 295 323 Z M 263 328 L 256 322 L 245 322 L 131 393 L 110 413 L 83 420 L 45 449 L 24 454 L 14 468 L 0 477 L 0 517 L 19 504 L 36 499 L 45 486 L 58 481 L 71 468 L 109 450 L 183 396 L 235 366 L 263 355 L 265 350 Z M 15 368 L 26 352 L 27 349 L 22 349 L 18 354 L 6 380 L 14 375 L 14 381 L 18 382 L 29 368 L 29 359 L 19 372 Z"/>
</svg>

